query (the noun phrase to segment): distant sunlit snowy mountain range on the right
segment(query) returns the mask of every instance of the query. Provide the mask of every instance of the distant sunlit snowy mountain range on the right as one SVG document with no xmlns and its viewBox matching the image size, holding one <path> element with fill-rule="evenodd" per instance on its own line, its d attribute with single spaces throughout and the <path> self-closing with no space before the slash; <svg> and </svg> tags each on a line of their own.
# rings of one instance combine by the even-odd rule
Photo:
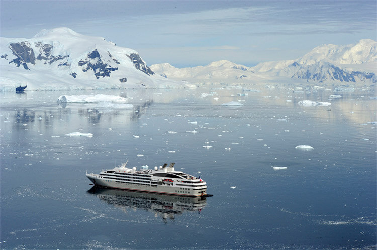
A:
<svg viewBox="0 0 377 250">
<path fill-rule="evenodd" d="M 373 85 L 377 82 L 377 42 L 363 39 L 351 45 L 322 45 L 296 60 L 263 62 L 254 67 L 223 60 L 182 69 L 168 63 L 155 64 L 151 69 L 166 78 L 196 84 L 276 83 L 291 79 L 313 84 Z"/>
</svg>

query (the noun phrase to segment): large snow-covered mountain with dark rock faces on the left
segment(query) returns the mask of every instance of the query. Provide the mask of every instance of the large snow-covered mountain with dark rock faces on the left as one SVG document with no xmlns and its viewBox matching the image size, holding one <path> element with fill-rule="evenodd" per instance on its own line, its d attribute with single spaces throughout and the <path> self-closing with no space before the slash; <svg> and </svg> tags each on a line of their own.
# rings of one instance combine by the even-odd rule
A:
<svg viewBox="0 0 377 250">
<path fill-rule="evenodd" d="M 1 38 L 0 89 L 166 88 L 186 84 L 155 74 L 132 49 L 69 28 Z"/>
</svg>

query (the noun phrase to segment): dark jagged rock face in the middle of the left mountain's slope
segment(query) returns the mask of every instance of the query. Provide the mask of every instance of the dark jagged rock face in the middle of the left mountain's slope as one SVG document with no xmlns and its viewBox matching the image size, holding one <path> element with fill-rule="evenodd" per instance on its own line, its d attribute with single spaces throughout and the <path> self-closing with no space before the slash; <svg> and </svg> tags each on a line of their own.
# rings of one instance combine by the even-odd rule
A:
<svg viewBox="0 0 377 250">
<path fill-rule="evenodd" d="M 100 77 L 110 77 L 111 71 L 118 70 L 117 68 L 110 67 L 108 64 L 104 63 L 101 59 L 100 53 L 97 49 L 93 50 L 87 55 L 86 60 L 81 59 L 78 62 L 78 66 L 84 66 L 82 71 L 87 72 L 88 70 L 93 70 L 97 79 Z"/>
</svg>

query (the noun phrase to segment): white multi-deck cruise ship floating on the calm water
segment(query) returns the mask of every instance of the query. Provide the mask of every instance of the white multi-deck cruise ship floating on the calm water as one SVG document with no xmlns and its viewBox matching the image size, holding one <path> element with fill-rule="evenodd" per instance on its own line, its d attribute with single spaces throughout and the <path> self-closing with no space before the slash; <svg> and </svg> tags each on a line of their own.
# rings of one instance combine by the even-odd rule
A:
<svg viewBox="0 0 377 250">
<path fill-rule="evenodd" d="M 169 195 L 207 197 L 207 184 L 201 178 L 181 171 L 175 171 L 175 163 L 165 163 L 160 168 L 136 170 L 121 166 L 101 171 L 99 174 L 86 174 L 96 186 L 111 187 L 142 192 Z"/>
</svg>

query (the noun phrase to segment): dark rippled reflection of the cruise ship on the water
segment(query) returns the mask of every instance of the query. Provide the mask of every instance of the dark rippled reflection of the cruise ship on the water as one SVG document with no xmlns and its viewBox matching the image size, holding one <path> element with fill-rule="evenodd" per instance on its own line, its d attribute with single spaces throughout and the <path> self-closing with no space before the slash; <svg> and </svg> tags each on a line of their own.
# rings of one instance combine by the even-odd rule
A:
<svg viewBox="0 0 377 250">
<path fill-rule="evenodd" d="M 164 223 L 167 223 L 168 219 L 174 220 L 175 216 L 184 212 L 198 211 L 200 214 L 206 206 L 206 198 L 201 197 L 144 193 L 97 186 L 93 186 L 87 192 L 125 212 L 127 209 L 138 209 L 154 213 L 155 217 L 160 216 Z"/>
</svg>

